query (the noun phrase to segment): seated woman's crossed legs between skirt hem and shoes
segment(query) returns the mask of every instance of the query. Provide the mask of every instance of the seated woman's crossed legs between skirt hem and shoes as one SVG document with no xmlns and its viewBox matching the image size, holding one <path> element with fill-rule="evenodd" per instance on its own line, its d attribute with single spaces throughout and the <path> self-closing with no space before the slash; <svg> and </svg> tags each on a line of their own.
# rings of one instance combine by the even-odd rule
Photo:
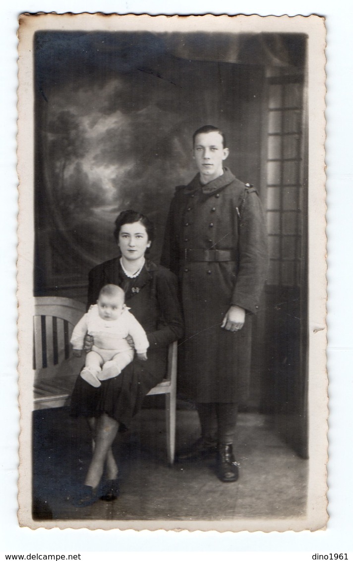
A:
<svg viewBox="0 0 353 561">
<path fill-rule="evenodd" d="M 107 466 L 110 466 L 112 470 L 111 473 L 107 474 L 108 479 L 115 479 L 115 477 L 111 477 L 113 472 L 116 471 L 117 473 L 117 466 L 112 454 L 111 445 L 114 442 L 118 428 L 119 423 L 115 419 L 108 417 L 106 413 L 103 413 L 97 420 L 93 457 L 84 482 L 85 485 L 89 485 L 93 489 L 96 489 L 99 485 L 106 462 Z"/>
</svg>

